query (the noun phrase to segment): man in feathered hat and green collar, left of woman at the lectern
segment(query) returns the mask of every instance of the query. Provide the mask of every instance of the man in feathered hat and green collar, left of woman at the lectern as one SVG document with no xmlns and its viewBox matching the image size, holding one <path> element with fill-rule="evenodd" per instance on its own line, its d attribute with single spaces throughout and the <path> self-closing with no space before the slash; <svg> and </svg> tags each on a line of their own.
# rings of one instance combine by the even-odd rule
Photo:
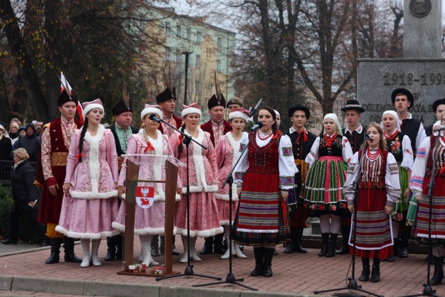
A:
<svg viewBox="0 0 445 297">
<path fill-rule="evenodd" d="M 108 128 L 111 130 L 111 133 L 113 133 L 114 136 L 116 151 L 118 152 L 119 170 L 122 166 L 122 161 L 124 161 L 122 154 L 127 153 L 127 145 L 130 136 L 138 133 L 139 131 L 138 128 L 131 126 L 131 122 L 133 122 L 133 109 L 131 108 L 125 83 L 122 88 L 122 93 L 124 99 L 120 99 L 119 102 L 113 106 L 113 109 L 111 109 L 113 118 L 115 120 L 114 125 Z M 119 199 L 119 204 L 120 203 L 121 200 Z M 122 245 L 122 234 L 107 237 L 106 246 L 108 248 L 104 260 L 113 261 L 114 259 L 122 259 L 122 253 L 124 251 Z"/>
</svg>

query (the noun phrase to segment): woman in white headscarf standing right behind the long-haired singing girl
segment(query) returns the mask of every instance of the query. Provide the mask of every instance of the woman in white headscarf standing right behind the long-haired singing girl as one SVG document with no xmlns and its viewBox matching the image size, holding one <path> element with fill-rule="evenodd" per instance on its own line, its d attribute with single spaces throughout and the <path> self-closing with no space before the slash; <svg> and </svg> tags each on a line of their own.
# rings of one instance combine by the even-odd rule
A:
<svg viewBox="0 0 445 297">
<path fill-rule="evenodd" d="M 408 200 L 410 200 L 411 189 L 408 182 L 411 178 L 411 168 L 414 166 L 414 158 L 412 156 L 412 147 L 410 138 L 401 133 L 401 126 L 398 115 L 395 111 L 385 111 L 382 115 L 380 127 L 384 130 L 383 134 L 386 140 L 386 149 L 396 158 L 398 172 L 401 183 L 401 199 L 394 205 L 391 213 L 392 236 L 394 238 L 394 255 L 391 255 L 387 261 L 394 262 L 394 256 L 407 257 L 407 242 L 410 232 L 400 232 L 401 239 L 400 252 L 398 248 L 399 230 L 406 226 L 406 216 L 408 210 Z"/>
</svg>

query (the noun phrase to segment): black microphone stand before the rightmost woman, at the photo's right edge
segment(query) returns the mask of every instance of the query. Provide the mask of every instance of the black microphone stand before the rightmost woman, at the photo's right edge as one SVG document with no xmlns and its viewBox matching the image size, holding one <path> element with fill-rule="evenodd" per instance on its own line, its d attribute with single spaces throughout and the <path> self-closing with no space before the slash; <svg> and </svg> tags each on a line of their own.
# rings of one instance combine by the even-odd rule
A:
<svg viewBox="0 0 445 297">
<path fill-rule="evenodd" d="M 437 156 L 439 155 L 439 152 L 437 152 L 437 147 L 439 147 L 439 141 L 440 141 L 440 134 L 443 131 L 443 129 L 439 129 L 439 135 L 437 135 L 436 144 L 435 144 L 435 150 L 434 154 L 432 154 L 432 168 L 431 168 L 431 179 L 430 183 L 428 184 L 428 203 L 430 205 L 429 214 L 428 214 L 428 264 L 426 268 L 426 284 L 423 284 L 423 292 L 420 294 L 414 294 L 414 295 L 406 295 L 404 297 L 414 297 L 414 296 L 438 296 L 435 295 L 436 290 L 433 290 L 430 284 L 430 262 L 429 259 L 432 259 L 432 239 L 431 239 L 431 219 L 432 219 L 432 190 L 434 189 L 434 177 L 435 177 L 435 170 L 436 170 L 436 160 Z"/>
</svg>

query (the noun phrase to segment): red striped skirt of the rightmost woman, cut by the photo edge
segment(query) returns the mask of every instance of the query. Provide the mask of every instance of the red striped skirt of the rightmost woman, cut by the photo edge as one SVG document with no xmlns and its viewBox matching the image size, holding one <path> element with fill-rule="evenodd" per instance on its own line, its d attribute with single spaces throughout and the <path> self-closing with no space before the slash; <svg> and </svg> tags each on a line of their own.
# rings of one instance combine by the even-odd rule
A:
<svg viewBox="0 0 445 297">
<path fill-rule="evenodd" d="M 430 205 L 428 198 L 428 184 L 431 176 L 423 180 L 423 195 L 419 202 L 417 221 L 414 236 L 421 239 L 422 245 L 428 245 L 428 220 L 430 216 Z M 445 248 L 445 177 L 435 177 L 432 193 L 432 216 L 431 216 L 431 238 L 433 246 Z"/>
</svg>

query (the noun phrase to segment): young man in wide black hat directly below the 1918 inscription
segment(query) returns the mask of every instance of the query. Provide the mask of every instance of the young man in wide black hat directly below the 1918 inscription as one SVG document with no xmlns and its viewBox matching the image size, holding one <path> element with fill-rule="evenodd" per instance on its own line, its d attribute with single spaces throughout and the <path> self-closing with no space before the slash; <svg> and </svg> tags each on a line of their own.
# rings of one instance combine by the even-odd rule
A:
<svg viewBox="0 0 445 297">
<path fill-rule="evenodd" d="M 417 150 L 426 138 L 426 133 L 422 123 L 412 118 L 412 114 L 408 112 L 414 106 L 414 96 L 405 88 L 397 88 L 391 94 L 391 102 L 396 106 L 398 120 L 402 129 L 401 132 L 410 138 L 415 159 Z M 398 238 L 398 257 L 408 257 L 408 240 L 410 239 L 411 229 L 411 226 L 401 226 Z"/>
</svg>

